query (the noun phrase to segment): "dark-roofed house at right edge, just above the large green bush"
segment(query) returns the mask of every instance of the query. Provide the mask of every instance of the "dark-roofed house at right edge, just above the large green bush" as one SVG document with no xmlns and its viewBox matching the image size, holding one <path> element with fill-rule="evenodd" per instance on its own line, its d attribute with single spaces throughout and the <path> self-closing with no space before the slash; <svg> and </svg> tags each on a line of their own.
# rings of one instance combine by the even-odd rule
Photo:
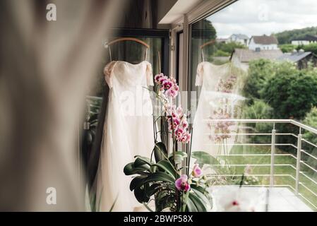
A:
<svg viewBox="0 0 317 226">
<path fill-rule="evenodd" d="M 294 50 L 292 53 L 282 54 L 282 56 L 277 58 L 277 61 L 291 61 L 297 65 L 298 69 L 306 69 L 309 62 L 316 67 L 317 56 L 312 52 L 304 52 L 304 50 L 301 49 L 299 52 Z"/>
</svg>

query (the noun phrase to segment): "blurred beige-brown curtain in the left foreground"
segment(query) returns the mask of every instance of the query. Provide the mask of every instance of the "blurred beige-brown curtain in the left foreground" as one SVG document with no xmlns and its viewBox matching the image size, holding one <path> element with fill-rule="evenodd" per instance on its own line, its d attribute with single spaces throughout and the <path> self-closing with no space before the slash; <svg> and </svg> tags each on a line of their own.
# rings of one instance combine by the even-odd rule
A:
<svg viewBox="0 0 317 226">
<path fill-rule="evenodd" d="M 57 20 L 49 22 L 51 3 Z M 0 210 L 84 210 L 76 126 L 123 5 L 0 1 Z M 47 204 L 49 187 L 56 205 Z"/>
</svg>

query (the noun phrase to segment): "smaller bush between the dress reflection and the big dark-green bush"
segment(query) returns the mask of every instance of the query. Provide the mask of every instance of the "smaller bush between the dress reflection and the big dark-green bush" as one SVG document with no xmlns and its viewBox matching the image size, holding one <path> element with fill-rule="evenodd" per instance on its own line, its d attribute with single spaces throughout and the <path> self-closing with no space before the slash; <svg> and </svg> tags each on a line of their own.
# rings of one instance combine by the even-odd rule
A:
<svg viewBox="0 0 317 226">
<path fill-rule="evenodd" d="M 253 60 L 249 64 L 249 74 L 244 86 L 244 95 L 249 99 L 261 99 L 263 87 L 274 75 L 275 63 L 268 59 Z M 252 101 L 251 101 L 252 102 Z"/>
</svg>

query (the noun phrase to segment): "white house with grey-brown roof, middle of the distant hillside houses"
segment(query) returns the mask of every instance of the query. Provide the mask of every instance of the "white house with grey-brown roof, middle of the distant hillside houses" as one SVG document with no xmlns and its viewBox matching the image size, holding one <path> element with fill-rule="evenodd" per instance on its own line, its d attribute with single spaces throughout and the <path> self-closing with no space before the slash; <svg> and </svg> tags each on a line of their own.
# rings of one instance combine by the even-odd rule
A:
<svg viewBox="0 0 317 226">
<path fill-rule="evenodd" d="M 249 41 L 249 49 L 255 51 L 256 49 L 261 50 L 277 50 L 278 41 L 274 36 L 262 35 L 252 36 Z"/>
</svg>

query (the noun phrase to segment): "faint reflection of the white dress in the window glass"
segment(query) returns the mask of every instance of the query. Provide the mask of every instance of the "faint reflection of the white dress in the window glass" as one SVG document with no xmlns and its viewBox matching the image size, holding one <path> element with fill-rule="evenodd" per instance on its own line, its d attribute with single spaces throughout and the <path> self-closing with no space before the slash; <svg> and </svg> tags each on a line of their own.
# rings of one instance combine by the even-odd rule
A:
<svg viewBox="0 0 317 226">
<path fill-rule="evenodd" d="M 231 133 L 237 131 L 232 122 L 211 122 L 210 119 L 239 117 L 239 96 L 243 85 L 243 72 L 232 62 L 222 65 L 202 62 L 198 64 L 196 85 L 201 86 L 197 112 L 193 121 L 192 151 L 205 151 L 210 155 L 229 153 L 234 143 Z"/>
</svg>

